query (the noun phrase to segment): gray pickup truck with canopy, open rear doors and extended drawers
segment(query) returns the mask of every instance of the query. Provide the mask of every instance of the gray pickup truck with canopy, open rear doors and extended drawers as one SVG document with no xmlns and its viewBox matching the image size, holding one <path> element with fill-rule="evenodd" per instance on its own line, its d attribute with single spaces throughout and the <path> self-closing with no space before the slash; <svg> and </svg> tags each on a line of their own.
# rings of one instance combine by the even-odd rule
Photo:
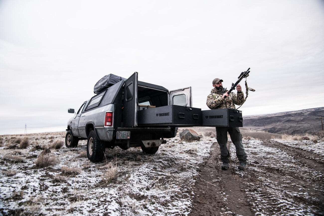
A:
<svg viewBox="0 0 324 216">
<path fill-rule="evenodd" d="M 100 162 L 106 148 L 141 147 L 155 154 L 164 138 L 173 138 L 178 127 L 242 126 L 238 110 L 205 110 L 192 107 L 191 87 L 168 89 L 109 74 L 94 86 L 95 96 L 82 103 L 67 123 L 65 145 L 73 148 L 87 139 L 87 157 Z"/>
</svg>

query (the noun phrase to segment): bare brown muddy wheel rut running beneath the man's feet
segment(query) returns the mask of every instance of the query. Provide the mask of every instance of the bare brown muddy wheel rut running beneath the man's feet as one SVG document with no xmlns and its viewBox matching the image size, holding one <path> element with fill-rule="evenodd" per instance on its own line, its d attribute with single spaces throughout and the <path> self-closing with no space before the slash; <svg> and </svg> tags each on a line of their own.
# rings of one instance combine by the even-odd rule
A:
<svg viewBox="0 0 324 216">
<path fill-rule="evenodd" d="M 197 182 L 192 188 L 195 195 L 190 216 L 255 215 L 246 201 L 247 186 L 236 171 L 237 164 L 232 164 L 228 170 L 221 170 L 219 146 L 214 142 L 210 158 L 201 167 L 200 175 L 196 177 Z"/>
</svg>

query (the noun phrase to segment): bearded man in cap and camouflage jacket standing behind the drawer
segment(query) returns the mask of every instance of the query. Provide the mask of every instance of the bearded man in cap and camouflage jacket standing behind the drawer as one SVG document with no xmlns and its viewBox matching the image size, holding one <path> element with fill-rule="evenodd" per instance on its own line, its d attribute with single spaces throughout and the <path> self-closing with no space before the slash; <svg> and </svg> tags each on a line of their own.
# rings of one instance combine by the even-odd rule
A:
<svg viewBox="0 0 324 216">
<path fill-rule="evenodd" d="M 236 86 L 237 94 L 231 92 L 227 94 L 226 88 L 223 88 L 223 80 L 215 78 L 213 80 L 214 89 L 207 97 L 207 106 L 209 109 L 236 109 L 235 104 L 241 105 L 244 102 L 244 93 L 240 85 Z M 216 139 L 221 151 L 222 169 L 227 170 L 229 164 L 229 150 L 227 149 L 227 132 L 236 148 L 236 156 L 240 162 L 238 169 L 246 170 L 247 155 L 242 143 L 242 134 L 238 127 L 216 127 Z"/>
</svg>

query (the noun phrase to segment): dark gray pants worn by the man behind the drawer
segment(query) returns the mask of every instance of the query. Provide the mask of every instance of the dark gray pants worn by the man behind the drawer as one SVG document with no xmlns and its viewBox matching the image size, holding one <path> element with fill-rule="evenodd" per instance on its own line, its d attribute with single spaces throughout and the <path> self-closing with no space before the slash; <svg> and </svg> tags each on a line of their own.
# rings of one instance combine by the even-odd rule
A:
<svg viewBox="0 0 324 216">
<path fill-rule="evenodd" d="M 221 160 L 229 163 L 229 150 L 227 149 L 227 132 L 236 148 L 236 156 L 240 163 L 247 163 L 247 155 L 242 143 L 242 134 L 238 127 L 216 127 L 216 139 L 221 150 Z"/>
</svg>

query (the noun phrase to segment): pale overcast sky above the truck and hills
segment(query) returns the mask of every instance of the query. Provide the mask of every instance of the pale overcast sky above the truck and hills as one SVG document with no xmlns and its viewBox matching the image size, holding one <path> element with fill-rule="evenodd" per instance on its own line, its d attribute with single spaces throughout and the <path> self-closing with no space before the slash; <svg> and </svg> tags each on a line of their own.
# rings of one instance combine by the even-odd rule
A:
<svg viewBox="0 0 324 216">
<path fill-rule="evenodd" d="M 0 134 L 65 130 L 110 73 L 206 110 L 250 67 L 243 115 L 323 107 L 323 20 L 320 0 L 0 0 Z"/>
</svg>

